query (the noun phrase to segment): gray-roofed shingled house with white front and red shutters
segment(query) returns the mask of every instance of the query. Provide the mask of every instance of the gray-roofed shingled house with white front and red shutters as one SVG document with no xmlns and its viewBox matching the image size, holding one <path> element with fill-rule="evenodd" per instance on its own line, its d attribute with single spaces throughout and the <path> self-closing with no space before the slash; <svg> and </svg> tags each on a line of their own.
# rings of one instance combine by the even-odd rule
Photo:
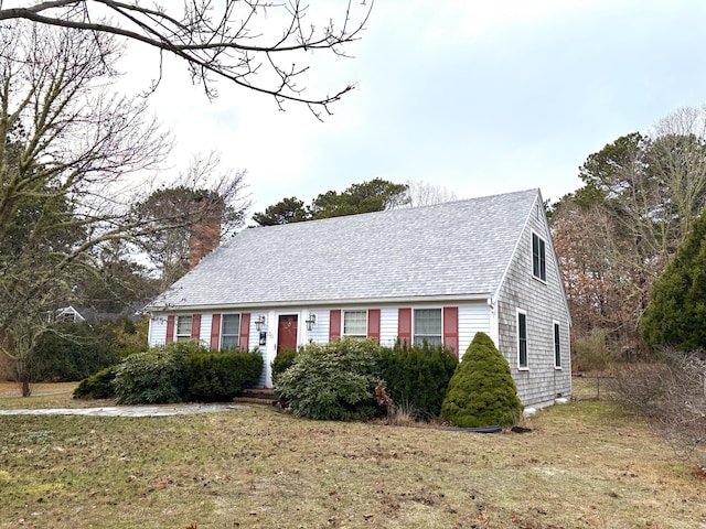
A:
<svg viewBox="0 0 706 529">
<path fill-rule="evenodd" d="M 482 331 L 525 406 L 571 391 L 570 316 L 538 190 L 245 229 L 147 310 L 150 345 L 278 352 L 339 336 L 443 343 Z"/>
</svg>

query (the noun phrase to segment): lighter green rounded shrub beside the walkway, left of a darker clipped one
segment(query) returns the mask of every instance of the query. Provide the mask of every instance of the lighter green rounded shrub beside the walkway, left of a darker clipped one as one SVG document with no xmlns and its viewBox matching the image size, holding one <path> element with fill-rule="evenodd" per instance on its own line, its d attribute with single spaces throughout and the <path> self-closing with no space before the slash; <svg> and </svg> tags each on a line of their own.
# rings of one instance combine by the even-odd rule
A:
<svg viewBox="0 0 706 529">
<path fill-rule="evenodd" d="M 207 353 L 196 342 L 173 342 L 124 359 L 113 382 L 120 404 L 179 402 L 186 398 L 186 358 Z"/>
</svg>

